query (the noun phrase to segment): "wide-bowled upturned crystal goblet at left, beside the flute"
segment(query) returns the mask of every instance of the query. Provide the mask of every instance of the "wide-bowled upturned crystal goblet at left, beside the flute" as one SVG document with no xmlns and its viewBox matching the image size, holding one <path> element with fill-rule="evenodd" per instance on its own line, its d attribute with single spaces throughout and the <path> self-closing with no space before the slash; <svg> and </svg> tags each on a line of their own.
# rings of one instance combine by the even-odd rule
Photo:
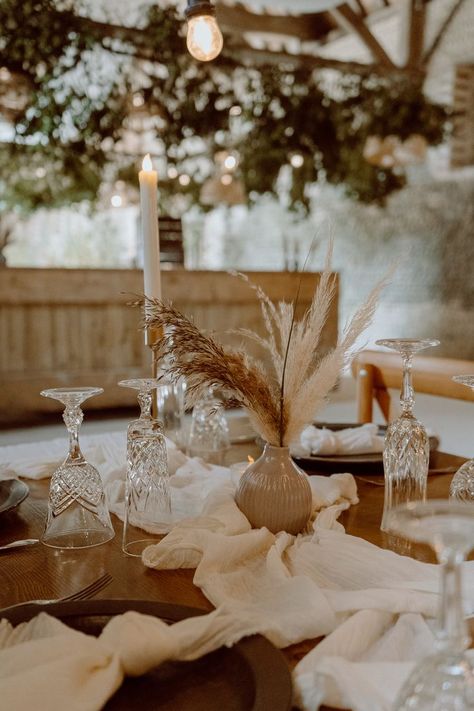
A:
<svg viewBox="0 0 474 711">
<path fill-rule="evenodd" d="M 41 395 L 65 406 L 69 454 L 51 477 L 48 516 L 42 541 L 53 548 L 88 548 L 114 537 L 99 472 L 84 459 L 79 447 L 81 404 L 103 388 L 51 388 Z"/>
</svg>

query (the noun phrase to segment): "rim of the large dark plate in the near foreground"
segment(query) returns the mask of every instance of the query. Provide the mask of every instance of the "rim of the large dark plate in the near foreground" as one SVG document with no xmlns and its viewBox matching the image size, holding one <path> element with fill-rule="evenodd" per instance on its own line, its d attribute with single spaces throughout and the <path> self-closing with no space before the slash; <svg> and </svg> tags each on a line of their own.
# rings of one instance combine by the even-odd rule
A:
<svg viewBox="0 0 474 711">
<path fill-rule="evenodd" d="M 148 614 L 171 623 L 206 615 L 209 612 L 209 610 L 169 602 L 111 598 L 75 600 L 48 605 L 25 602 L 10 611 L 7 610 L 2 617 L 11 624 L 17 625 L 20 622 L 27 622 L 39 612 L 47 612 L 67 624 L 68 617 L 113 617 L 128 611 Z M 221 648 L 223 647 L 225 648 L 224 645 Z M 240 654 L 254 680 L 255 695 L 251 711 L 268 711 L 269 708 L 272 711 L 289 711 L 293 693 L 291 672 L 281 650 L 261 634 L 243 637 L 231 648 Z M 108 699 L 108 702 L 112 700 L 113 696 Z"/>
</svg>

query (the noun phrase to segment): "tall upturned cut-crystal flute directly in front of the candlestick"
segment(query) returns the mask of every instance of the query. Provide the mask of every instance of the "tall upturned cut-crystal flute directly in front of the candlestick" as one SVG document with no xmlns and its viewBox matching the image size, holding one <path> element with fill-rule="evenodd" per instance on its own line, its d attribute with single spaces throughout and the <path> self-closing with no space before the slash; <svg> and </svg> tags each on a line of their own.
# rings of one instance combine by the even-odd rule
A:
<svg viewBox="0 0 474 711">
<path fill-rule="evenodd" d="M 168 457 L 162 425 L 151 416 L 152 391 L 160 386 L 156 378 L 121 380 L 119 385 L 138 390 L 140 417 L 127 431 L 127 481 L 122 550 L 141 556 L 169 531 L 171 494 Z"/>
</svg>

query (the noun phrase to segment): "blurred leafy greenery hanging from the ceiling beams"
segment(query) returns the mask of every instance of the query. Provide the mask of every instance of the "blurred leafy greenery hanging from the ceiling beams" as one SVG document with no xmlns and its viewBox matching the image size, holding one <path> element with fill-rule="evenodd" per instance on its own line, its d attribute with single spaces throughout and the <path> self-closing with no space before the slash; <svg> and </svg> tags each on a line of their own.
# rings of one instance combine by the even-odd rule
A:
<svg viewBox="0 0 474 711">
<path fill-rule="evenodd" d="M 225 52 L 198 63 L 173 8 L 150 7 L 137 29 L 81 17 L 77 7 L 0 4 L 0 85 L 22 86 L 13 108 L 0 92 L 0 111 L 13 125 L 0 144 L 6 207 L 95 201 L 104 180 L 136 183 L 127 135 L 137 132 L 158 139 L 160 160 L 176 175 L 160 181 L 164 200 L 179 193 L 199 202 L 214 153 L 226 148 L 240 156 L 250 199 L 276 194 L 282 167 L 291 165 L 288 200 L 302 209 L 308 185 L 321 179 L 364 202 L 403 186 L 402 171 L 365 160 L 370 136 L 443 139 L 446 111 L 424 97 L 419 79 L 351 74 L 328 83 L 324 70 L 249 68 Z M 183 173 L 187 184 L 178 182 Z"/>
</svg>

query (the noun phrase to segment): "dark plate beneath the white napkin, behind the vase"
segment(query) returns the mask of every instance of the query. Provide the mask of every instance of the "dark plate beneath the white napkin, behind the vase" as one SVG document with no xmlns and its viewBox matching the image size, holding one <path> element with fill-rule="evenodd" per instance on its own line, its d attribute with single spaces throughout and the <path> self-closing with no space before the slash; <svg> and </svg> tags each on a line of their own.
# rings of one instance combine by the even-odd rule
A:
<svg viewBox="0 0 474 711">
<path fill-rule="evenodd" d="M 315 422 L 315 427 L 337 432 L 348 427 L 360 427 L 360 422 Z M 379 425 L 378 435 L 385 436 L 387 425 Z M 430 450 L 434 452 L 438 449 L 439 440 L 437 437 L 430 437 Z M 314 454 L 308 456 L 293 455 L 293 459 L 302 469 L 321 471 L 322 473 L 332 473 L 341 471 L 350 472 L 371 472 L 373 474 L 383 474 L 382 452 L 368 452 L 366 454 L 339 454 L 322 455 Z"/>
</svg>

